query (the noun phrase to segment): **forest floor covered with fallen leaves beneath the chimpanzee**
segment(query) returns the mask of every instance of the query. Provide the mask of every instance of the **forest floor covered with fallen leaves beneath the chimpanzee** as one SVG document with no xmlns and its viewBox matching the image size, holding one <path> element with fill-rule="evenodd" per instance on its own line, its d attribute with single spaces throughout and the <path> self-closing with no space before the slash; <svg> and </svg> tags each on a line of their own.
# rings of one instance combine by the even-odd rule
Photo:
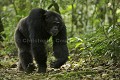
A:
<svg viewBox="0 0 120 80">
<path fill-rule="evenodd" d="M 27 74 L 17 70 L 16 57 L 0 56 L 0 80 L 120 80 L 120 67 L 105 58 L 71 56 L 60 69 L 45 74 Z"/>
</svg>

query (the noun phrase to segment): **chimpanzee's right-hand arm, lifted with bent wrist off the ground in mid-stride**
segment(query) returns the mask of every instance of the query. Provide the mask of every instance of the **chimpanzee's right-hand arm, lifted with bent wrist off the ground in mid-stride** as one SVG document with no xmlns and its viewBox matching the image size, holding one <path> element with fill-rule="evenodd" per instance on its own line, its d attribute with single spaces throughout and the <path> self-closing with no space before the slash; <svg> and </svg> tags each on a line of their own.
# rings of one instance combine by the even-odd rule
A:
<svg viewBox="0 0 120 80">
<path fill-rule="evenodd" d="M 53 36 L 53 51 L 57 61 L 52 63 L 51 67 L 59 68 L 68 60 L 67 34 L 65 26 L 56 36 Z"/>
</svg>

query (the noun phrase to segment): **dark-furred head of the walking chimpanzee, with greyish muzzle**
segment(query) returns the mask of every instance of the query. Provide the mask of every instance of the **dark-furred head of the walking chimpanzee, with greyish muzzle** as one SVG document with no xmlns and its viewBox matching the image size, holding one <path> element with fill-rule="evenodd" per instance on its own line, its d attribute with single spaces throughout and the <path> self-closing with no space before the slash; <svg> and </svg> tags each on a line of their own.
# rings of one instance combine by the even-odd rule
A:
<svg viewBox="0 0 120 80">
<path fill-rule="evenodd" d="M 52 11 L 45 13 L 45 22 L 46 30 L 52 36 L 56 36 L 64 25 L 61 16 Z"/>
</svg>

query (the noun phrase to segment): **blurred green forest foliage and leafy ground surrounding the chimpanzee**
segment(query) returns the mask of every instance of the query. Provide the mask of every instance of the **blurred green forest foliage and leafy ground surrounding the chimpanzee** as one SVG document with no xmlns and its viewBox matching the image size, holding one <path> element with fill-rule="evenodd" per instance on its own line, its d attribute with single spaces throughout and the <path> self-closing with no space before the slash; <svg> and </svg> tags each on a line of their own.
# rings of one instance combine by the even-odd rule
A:
<svg viewBox="0 0 120 80">
<path fill-rule="evenodd" d="M 14 31 L 18 21 L 38 7 L 62 15 L 67 26 L 70 56 L 60 70 L 48 70 L 46 75 L 26 75 L 15 70 L 18 58 Z M 49 63 L 52 60 L 51 40 L 48 43 Z M 27 78 L 119 80 L 120 1 L 0 0 L 0 80 Z"/>
</svg>

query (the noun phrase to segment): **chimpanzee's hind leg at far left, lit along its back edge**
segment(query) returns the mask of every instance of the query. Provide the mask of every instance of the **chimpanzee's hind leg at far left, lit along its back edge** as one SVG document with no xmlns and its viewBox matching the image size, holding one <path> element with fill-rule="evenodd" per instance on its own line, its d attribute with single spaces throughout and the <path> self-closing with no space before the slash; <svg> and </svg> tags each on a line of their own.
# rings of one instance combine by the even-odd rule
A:
<svg viewBox="0 0 120 80">
<path fill-rule="evenodd" d="M 28 40 L 16 30 L 15 42 L 18 47 L 18 57 L 19 57 L 19 70 L 23 70 L 27 73 L 31 73 L 35 66 L 33 65 L 33 58 L 31 54 L 31 47 Z"/>
</svg>

